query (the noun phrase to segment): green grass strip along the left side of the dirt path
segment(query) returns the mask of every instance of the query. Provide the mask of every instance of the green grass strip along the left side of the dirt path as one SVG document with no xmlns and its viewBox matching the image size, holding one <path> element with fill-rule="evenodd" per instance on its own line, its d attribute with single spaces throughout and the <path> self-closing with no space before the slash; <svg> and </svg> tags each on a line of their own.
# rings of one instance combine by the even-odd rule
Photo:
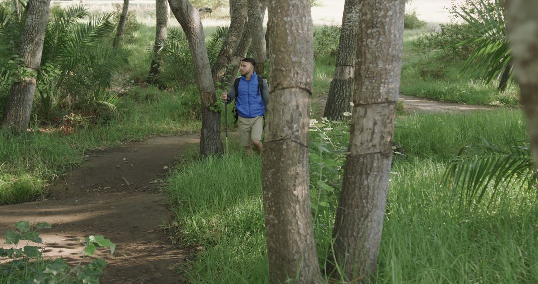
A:
<svg viewBox="0 0 538 284">
<path fill-rule="evenodd" d="M 0 133 L 0 204 L 14 204 L 46 194 L 44 188 L 56 177 L 79 165 L 84 153 L 117 147 L 131 139 L 198 131 L 197 91 L 164 92 L 133 87 L 122 97 L 118 120 L 75 128 L 69 134 L 40 128 L 13 136 Z"/>
</svg>

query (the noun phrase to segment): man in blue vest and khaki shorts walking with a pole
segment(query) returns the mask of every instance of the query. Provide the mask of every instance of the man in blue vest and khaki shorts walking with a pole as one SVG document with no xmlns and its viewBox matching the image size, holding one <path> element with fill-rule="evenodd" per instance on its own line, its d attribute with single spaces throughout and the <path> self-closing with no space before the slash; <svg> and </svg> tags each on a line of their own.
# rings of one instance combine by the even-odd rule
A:
<svg viewBox="0 0 538 284">
<path fill-rule="evenodd" d="M 239 65 L 241 76 L 235 79 L 228 92 L 221 94 L 222 100 L 230 103 L 236 99 L 236 115 L 239 126 L 239 141 L 241 146 L 252 155 L 261 154 L 261 131 L 263 116 L 269 103 L 269 90 L 267 81 L 260 80 L 254 67 L 256 62 L 252 58 L 244 58 Z"/>
</svg>

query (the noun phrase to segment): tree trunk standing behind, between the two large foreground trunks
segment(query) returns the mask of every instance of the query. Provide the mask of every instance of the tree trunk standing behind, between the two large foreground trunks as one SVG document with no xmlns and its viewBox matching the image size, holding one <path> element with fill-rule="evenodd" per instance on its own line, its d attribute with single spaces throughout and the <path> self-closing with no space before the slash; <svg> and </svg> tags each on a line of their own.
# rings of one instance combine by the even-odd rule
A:
<svg viewBox="0 0 538 284">
<path fill-rule="evenodd" d="M 346 0 L 344 4 L 336 70 L 323 111 L 323 116 L 329 119 L 342 119 L 342 113 L 351 110 L 360 3 L 360 0 Z"/>
</svg>

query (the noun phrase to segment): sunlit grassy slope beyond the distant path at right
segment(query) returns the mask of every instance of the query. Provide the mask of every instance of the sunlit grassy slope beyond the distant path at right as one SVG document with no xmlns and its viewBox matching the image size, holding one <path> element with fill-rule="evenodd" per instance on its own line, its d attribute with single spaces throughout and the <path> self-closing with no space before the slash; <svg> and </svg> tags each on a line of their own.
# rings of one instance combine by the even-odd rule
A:
<svg viewBox="0 0 538 284">
<path fill-rule="evenodd" d="M 509 84 L 506 91 L 501 92 L 497 90 L 498 80 L 486 84 L 480 76 L 462 74 L 466 58 L 436 47 L 424 47 L 436 44 L 424 42 L 421 38 L 423 33 L 427 31 L 404 32 L 400 81 L 402 94 L 466 104 L 519 104 L 519 88 L 515 83 Z"/>
</svg>

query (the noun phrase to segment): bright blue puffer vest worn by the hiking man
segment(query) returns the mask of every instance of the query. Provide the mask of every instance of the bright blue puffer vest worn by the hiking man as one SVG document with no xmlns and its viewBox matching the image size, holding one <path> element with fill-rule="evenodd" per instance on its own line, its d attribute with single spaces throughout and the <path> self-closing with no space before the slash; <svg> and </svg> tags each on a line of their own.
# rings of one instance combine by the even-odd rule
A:
<svg viewBox="0 0 538 284">
<path fill-rule="evenodd" d="M 252 72 L 250 81 L 246 81 L 244 76 L 240 77 L 236 94 L 236 109 L 239 116 L 246 118 L 264 115 L 264 102 L 261 100 L 256 72 Z"/>
</svg>

